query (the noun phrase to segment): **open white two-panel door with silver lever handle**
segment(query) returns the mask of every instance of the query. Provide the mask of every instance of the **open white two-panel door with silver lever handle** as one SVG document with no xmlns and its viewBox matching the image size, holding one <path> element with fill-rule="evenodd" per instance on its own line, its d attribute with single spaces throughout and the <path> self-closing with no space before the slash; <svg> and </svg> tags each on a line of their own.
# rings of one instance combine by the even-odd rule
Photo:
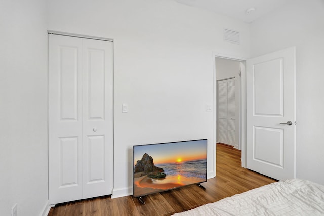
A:
<svg viewBox="0 0 324 216">
<path fill-rule="evenodd" d="M 295 48 L 247 60 L 247 168 L 295 178 L 295 119 Z"/>
</svg>

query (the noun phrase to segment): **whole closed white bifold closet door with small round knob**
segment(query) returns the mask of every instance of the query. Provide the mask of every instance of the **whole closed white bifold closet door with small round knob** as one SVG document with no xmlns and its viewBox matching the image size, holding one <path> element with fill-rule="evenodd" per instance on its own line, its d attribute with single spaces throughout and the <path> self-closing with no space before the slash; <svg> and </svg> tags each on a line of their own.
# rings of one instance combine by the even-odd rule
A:
<svg viewBox="0 0 324 216">
<path fill-rule="evenodd" d="M 49 202 L 112 193 L 112 42 L 49 34 Z"/>
</svg>

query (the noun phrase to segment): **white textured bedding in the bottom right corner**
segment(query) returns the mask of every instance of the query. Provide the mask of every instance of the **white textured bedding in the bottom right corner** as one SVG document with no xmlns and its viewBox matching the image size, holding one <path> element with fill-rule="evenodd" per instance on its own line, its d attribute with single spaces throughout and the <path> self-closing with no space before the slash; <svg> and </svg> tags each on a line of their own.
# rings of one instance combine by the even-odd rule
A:
<svg viewBox="0 0 324 216">
<path fill-rule="evenodd" d="M 324 186 L 290 179 L 174 215 L 324 215 Z"/>
</svg>

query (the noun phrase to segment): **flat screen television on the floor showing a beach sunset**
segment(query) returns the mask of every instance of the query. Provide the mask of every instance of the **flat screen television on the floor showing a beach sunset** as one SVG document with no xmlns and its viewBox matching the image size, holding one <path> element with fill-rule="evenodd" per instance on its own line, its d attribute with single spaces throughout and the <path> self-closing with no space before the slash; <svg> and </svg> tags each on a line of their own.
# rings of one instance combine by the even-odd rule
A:
<svg viewBox="0 0 324 216">
<path fill-rule="evenodd" d="M 207 139 L 133 146 L 133 196 L 207 181 Z"/>
</svg>

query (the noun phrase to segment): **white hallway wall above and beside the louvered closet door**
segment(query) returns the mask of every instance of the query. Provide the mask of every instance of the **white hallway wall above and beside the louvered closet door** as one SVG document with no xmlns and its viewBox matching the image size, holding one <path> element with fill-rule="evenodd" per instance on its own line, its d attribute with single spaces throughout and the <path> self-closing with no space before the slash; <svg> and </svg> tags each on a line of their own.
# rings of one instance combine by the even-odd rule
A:
<svg viewBox="0 0 324 216">
<path fill-rule="evenodd" d="M 216 80 L 223 80 L 234 77 L 235 79 L 235 145 L 237 149 L 241 149 L 239 146 L 239 101 L 240 101 L 240 89 L 241 78 L 240 62 L 231 59 L 215 58 L 215 70 Z"/>
</svg>

